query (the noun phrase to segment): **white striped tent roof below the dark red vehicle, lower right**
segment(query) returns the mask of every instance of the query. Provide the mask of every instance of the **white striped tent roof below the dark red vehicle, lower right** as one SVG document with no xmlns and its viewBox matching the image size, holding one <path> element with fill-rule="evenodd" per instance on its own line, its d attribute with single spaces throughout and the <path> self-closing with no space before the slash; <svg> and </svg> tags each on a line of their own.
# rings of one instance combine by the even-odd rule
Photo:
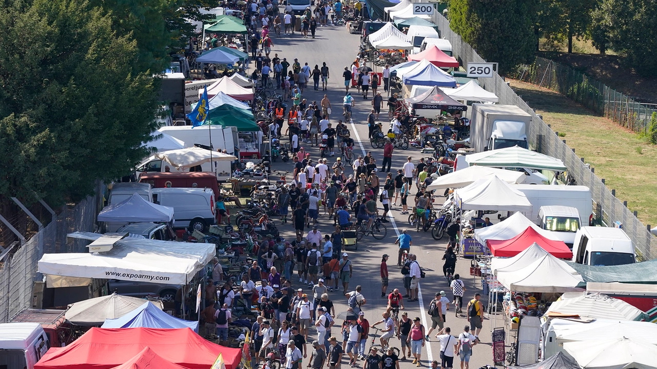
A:
<svg viewBox="0 0 657 369">
<path fill-rule="evenodd" d="M 547 309 L 547 314 L 579 315 L 591 318 L 644 320 L 649 316 L 623 300 L 614 299 L 600 293 L 590 293 L 572 299 L 555 301 Z"/>
</svg>

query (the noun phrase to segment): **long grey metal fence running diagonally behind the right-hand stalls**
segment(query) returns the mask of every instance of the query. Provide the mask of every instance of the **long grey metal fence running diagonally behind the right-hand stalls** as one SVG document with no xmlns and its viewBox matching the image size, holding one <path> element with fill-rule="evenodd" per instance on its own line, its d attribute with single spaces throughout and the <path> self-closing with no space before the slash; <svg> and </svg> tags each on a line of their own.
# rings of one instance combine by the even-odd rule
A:
<svg viewBox="0 0 657 369">
<path fill-rule="evenodd" d="M 461 65 L 465 66 L 468 62 L 485 62 L 485 60 L 479 56 L 476 51 L 468 45 L 468 43 L 465 43 L 463 39 L 461 39 L 460 35 L 449 28 L 449 21 L 441 14 L 434 14 L 433 22 L 438 26 L 440 36 L 451 42 L 453 54 L 459 60 Z M 597 221 L 600 221 L 600 223 L 609 227 L 614 226 L 616 222 L 621 223 L 623 229 L 635 244 L 637 259 L 648 260 L 657 257 L 657 238 L 650 234 L 650 225 L 643 225 L 643 223 L 637 219 L 636 212 L 633 213 L 627 209 L 627 202 L 618 200 L 618 198 L 614 196 L 615 191 L 606 188 L 604 182 L 595 175 L 595 168 L 587 165 L 583 158 L 579 158 L 574 150 L 568 147 L 566 142 L 562 141 L 562 139 L 560 139 L 556 133 L 545 124 L 543 119 L 539 118 L 533 109 L 530 108 L 522 98 L 514 93 L 503 77 L 495 73 L 492 78 L 480 78 L 478 81 L 484 89 L 495 93 L 495 95 L 499 97 L 499 104 L 516 105 L 532 115 L 532 125 L 530 125 L 530 131 L 528 133 L 530 145 L 538 152 L 563 160 L 564 164 L 568 167 L 568 174 L 575 179 L 576 185 L 587 186 L 591 189 L 591 196 L 593 197 L 593 213 Z M 556 82 L 553 82 L 551 79 L 549 83 Z M 545 85 L 545 82 L 543 85 Z M 578 86 L 581 85 L 582 84 L 580 83 Z M 577 87 L 577 89 L 580 89 L 580 87 Z M 584 91 L 584 89 L 581 88 L 580 91 Z M 595 99 L 592 98 L 591 95 L 586 97 L 587 94 L 583 92 L 572 93 L 575 93 L 576 96 L 581 97 L 583 100 L 589 99 L 592 103 L 595 102 Z M 616 91 L 612 90 L 612 93 L 606 91 L 601 94 L 602 97 L 606 97 L 606 100 L 603 102 L 613 100 L 613 98 L 608 98 L 610 94 L 613 97 L 613 95 L 616 94 Z M 625 100 L 623 101 L 625 106 L 628 106 L 627 112 L 629 112 L 629 104 L 631 104 L 631 102 L 626 102 L 627 97 L 625 97 Z M 600 104 L 601 106 L 606 106 L 605 110 L 608 114 L 618 116 L 618 119 L 627 116 L 625 113 L 618 112 L 618 108 L 614 108 L 613 106 L 610 107 L 609 104 Z M 620 103 L 614 104 L 620 106 Z M 638 111 L 639 110 L 637 110 L 637 112 Z M 642 114 L 636 113 L 636 116 L 649 116 L 650 114 L 643 110 Z M 648 120 L 649 119 L 650 118 L 648 118 Z M 645 127 L 645 123 L 641 124 L 643 124 L 642 127 Z M 630 123 L 629 127 L 635 125 L 638 126 L 639 123 L 636 123 L 635 121 L 635 123 Z"/>
</svg>

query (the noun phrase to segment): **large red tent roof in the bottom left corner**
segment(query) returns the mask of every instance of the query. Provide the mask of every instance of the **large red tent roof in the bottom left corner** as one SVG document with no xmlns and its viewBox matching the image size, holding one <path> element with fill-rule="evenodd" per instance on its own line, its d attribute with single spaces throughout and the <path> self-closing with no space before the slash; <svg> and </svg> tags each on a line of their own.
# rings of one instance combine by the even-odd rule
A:
<svg viewBox="0 0 657 369">
<path fill-rule="evenodd" d="M 189 328 L 91 328 L 66 347 L 53 347 L 35 369 L 110 369 L 149 347 L 169 362 L 187 369 L 210 369 L 223 353 L 226 369 L 237 369 L 240 349 L 206 341 Z"/>
</svg>

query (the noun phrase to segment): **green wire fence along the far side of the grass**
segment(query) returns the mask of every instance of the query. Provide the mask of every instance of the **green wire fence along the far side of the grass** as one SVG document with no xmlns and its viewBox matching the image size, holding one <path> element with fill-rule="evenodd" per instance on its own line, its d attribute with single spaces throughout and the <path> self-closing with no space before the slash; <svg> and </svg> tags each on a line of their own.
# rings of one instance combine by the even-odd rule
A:
<svg viewBox="0 0 657 369">
<path fill-rule="evenodd" d="M 646 133 L 653 107 L 637 102 L 570 66 L 545 58 L 518 66 L 509 77 L 546 87 L 586 106 L 593 112 L 638 133 Z"/>
</svg>

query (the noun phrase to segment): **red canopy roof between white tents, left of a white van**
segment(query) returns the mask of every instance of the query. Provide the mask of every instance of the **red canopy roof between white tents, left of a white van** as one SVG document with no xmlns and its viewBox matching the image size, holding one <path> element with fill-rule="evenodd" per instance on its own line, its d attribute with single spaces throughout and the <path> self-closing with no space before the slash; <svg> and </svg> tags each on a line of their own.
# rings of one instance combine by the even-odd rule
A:
<svg viewBox="0 0 657 369">
<path fill-rule="evenodd" d="M 559 259 L 570 259 L 573 257 L 572 251 L 568 249 L 568 246 L 563 241 L 549 240 L 541 236 L 532 227 L 527 227 L 522 233 L 510 240 L 487 240 L 486 245 L 491 250 L 491 253 L 493 253 L 493 256 L 512 257 L 532 246 L 534 242 L 539 244 L 543 250 Z"/>
</svg>

